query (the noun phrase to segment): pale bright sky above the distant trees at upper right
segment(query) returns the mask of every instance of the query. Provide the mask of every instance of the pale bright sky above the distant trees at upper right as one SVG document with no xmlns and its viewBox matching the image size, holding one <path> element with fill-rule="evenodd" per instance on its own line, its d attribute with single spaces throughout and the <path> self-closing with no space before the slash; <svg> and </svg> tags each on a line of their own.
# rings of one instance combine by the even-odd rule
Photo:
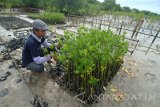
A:
<svg viewBox="0 0 160 107">
<path fill-rule="evenodd" d="M 98 0 L 103 2 L 104 0 Z M 121 7 L 128 6 L 139 10 L 148 10 L 160 14 L 160 0 L 116 0 Z"/>
</svg>

